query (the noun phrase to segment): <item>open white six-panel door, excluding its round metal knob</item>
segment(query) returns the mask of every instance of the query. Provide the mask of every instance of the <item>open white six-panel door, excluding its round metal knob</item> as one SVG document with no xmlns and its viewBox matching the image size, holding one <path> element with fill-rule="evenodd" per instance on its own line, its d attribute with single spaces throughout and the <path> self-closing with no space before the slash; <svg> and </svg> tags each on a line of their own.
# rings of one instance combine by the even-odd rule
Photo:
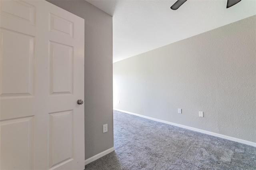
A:
<svg viewBox="0 0 256 170">
<path fill-rule="evenodd" d="M 84 169 L 84 19 L 1 0 L 0 169 Z"/>
</svg>

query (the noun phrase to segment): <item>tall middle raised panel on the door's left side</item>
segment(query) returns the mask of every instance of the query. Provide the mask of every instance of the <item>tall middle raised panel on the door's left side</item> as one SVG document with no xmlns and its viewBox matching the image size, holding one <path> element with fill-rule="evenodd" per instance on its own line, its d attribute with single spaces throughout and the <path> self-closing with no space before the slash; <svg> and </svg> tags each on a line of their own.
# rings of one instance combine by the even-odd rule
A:
<svg viewBox="0 0 256 170">
<path fill-rule="evenodd" d="M 34 37 L 1 29 L 1 98 L 34 95 Z"/>
</svg>

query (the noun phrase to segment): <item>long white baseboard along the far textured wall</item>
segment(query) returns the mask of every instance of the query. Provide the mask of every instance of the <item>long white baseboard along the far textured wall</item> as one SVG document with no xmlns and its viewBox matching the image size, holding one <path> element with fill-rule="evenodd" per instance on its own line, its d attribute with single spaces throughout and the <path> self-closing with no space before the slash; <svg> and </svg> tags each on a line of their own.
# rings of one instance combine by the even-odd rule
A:
<svg viewBox="0 0 256 170">
<path fill-rule="evenodd" d="M 250 146 L 256 147 L 256 143 L 254 143 L 254 142 L 250 142 L 250 141 L 239 139 L 239 138 L 234 138 L 234 137 L 231 137 L 231 136 L 226 136 L 224 134 L 218 134 L 218 133 L 202 130 L 202 129 L 199 129 L 199 128 L 193 128 L 193 127 L 188 127 L 188 126 L 185 126 L 185 125 L 180 125 L 180 124 L 177 124 L 177 123 L 163 121 L 163 120 L 160 120 L 160 119 L 155 119 L 155 118 L 152 118 L 152 117 L 143 116 L 143 115 L 139 115 L 139 114 L 128 112 L 128 111 L 123 111 L 123 110 L 120 110 L 120 109 L 115 109 L 114 108 L 114 110 L 124 112 L 124 113 L 128 113 L 128 114 L 131 114 L 131 115 L 135 115 L 135 116 L 138 116 L 138 117 L 143 117 L 143 118 L 150 119 L 150 120 L 153 120 L 153 121 L 166 123 L 168 125 L 173 125 L 173 126 L 176 126 L 176 127 L 186 128 L 186 129 L 193 130 L 193 131 L 196 131 L 196 132 L 201 132 L 201 133 L 209 134 L 209 135 L 216 136 L 216 137 L 219 137 L 219 138 L 224 138 L 224 139 L 232 140 L 234 142 L 239 142 L 239 143 L 242 143 L 242 144 L 248 144 Z"/>
</svg>

